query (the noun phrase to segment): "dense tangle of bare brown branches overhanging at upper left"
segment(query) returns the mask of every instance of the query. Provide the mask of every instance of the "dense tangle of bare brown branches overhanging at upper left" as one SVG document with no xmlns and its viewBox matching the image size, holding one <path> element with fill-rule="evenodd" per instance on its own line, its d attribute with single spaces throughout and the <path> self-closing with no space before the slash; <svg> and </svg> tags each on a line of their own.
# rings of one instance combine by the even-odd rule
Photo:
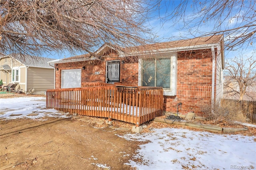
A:
<svg viewBox="0 0 256 170">
<path fill-rule="evenodd" d="M 0 52 L 86 51 L 150 43 L 146 0 L 0 0 Z M 94 54 L 92 54 L 94 55 Z"/>
</svg>

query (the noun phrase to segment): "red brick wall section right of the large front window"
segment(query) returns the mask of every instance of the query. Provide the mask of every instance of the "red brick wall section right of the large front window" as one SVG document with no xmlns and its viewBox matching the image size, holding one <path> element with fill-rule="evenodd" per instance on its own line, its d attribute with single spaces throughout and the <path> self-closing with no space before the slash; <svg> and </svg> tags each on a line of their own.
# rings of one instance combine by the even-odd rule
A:
<svg viewBox="0 0 256 170">
<path fill-rule="evenodd" d="M 177 96 L 164 97 L 164 109 L 177 112 L 177 103 L 182 103 L 180 113 L 194 111 L 200 115 L 200 106 L 211 102 L 212 53 L 211 50 L 178 52 Z"/>
</svg>

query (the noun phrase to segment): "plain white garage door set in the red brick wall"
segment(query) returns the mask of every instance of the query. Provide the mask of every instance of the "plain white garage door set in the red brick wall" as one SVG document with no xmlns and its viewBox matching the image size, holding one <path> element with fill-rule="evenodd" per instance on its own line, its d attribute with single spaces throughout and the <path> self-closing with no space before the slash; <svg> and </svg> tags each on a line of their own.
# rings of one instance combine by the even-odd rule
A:
<svg viewBox="0 0 256 170">
<path fill-rule="evenodd" d="M 61 88 L 81 87 L 81 69 L 61 71 Z"/>
</svg>

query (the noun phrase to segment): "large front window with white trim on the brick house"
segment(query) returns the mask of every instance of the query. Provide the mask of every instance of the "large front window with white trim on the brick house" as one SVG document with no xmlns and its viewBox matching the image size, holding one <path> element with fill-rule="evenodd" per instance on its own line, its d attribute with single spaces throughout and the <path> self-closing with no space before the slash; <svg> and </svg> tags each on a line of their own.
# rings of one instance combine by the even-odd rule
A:
<svg viewBox="0 0 256 170">
<path fill-rule="evenodd" d="M 139 73 L 139 85 L 163 87 L 164 95 L 176 95 L 176 56 L 140 59 Z"/>
</svg>

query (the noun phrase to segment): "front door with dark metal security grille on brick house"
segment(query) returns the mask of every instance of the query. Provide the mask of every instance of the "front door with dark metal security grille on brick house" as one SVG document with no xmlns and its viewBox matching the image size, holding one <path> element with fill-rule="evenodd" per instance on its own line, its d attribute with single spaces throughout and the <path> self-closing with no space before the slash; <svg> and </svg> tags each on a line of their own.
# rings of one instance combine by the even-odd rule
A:
<svg viewBox="0 0 256 170">
<path fill-rule="evenodd" d="M 120 81 L 120 61 L 110 61 L 107 64 L 107 83 Z"/>
</svg>

